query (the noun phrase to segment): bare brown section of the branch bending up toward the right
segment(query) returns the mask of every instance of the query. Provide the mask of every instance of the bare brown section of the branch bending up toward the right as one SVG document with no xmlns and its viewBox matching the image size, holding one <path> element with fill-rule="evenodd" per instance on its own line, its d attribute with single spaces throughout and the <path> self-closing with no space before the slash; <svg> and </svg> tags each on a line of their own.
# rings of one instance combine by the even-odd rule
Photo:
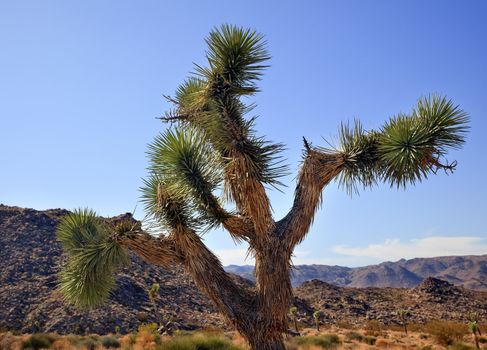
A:
<svg viewBox="0 0 487 350">
<path fill-rule="evenodd" d="M 305 151 L 293 206 L 276 225 L 278 234 L 284 237 L 291 251 L 308 233 L 321 204 L 323 188 L 340 173 L 342 167 L 343 157 L 338 153 L 326 153 L 316 148 Z"/>
</svg>

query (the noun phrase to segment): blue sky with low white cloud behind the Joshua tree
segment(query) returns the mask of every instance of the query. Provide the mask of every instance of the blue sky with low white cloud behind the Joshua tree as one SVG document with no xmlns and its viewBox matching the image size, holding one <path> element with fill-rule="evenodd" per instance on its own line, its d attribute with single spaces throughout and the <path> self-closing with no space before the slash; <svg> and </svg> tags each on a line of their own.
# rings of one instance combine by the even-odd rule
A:
<svg viewBox="0 0 487 350">
<path fill-rule="evenodd" d="M 325 145 L 341 121 L 379 127 L 441 93 L 471 115 L 458 169 L 406 191 L 350 198 L 336 184 L 295 263 L 357 266 L 487 253 L 487 2 L 1 1 L 0 202 L 36 209 L 133 211 L 156 119 L 222 23 L 265 34 L 271 68 L 252 98 L 258 130 L 287 144 L 293 171 L 271 192 L 292 201 L 302 137 Z M 143 217 L 139 205 L 136 215 Z M 245 247 L 205 237 L 225 264 Z"/>
</svg>

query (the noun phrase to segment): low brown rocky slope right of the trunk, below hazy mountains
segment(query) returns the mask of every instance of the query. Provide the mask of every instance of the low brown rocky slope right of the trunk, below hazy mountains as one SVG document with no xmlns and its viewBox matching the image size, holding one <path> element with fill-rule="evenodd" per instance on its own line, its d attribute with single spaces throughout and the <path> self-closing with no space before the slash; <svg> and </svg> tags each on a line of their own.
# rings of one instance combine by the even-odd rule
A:
<svg viewBox="0 0 487 350">
<path fill-rule="evenodd" d="M 469 314 L 479 312 L 487 319 L 487 292 L 465 289 L 447 281 L 429 277 L 412 289 L 338 287 L 320 280 L 304 282 L 295 288 L 298 300 L 309 309 L 301 308 L 301 317 L 308 321 L 313 310 L 321 310 L 327 322 L 363 324 L 379 320 L 398 323 L 398 309 L 410 311 L 410 322 L 454 320 L 467 322 Z"/>
</svg>

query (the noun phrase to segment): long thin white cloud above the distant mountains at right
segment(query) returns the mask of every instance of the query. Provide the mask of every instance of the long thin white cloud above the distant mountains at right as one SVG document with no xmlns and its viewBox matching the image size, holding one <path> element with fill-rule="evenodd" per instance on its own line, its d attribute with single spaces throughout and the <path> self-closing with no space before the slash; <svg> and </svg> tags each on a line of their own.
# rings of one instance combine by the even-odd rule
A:
<svg viewBox="0 0 487 350">
<path fill-rule="evenodd" d="M 445 255 L 481 255 L 487 254 L 487 239 L 475 236 L 429 236 L 405 242 L 400 239 L 386 239 L 383 243 L 369 244 L 365 247 L 335 246 L 333 251 L 337 254 L 379 261 Z"/>
</svg>

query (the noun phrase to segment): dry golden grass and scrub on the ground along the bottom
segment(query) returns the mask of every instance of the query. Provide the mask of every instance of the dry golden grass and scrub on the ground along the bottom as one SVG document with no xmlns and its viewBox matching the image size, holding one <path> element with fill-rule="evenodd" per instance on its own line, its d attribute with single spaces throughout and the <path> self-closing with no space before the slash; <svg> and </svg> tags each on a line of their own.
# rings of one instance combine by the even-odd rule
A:
<svg viewBox="0 0 487 350">
<path fill-rule="evenodd" d="M 376 323 L 354 330 L 329 326 L 322 332 L 314 328 L 304 328 L 302 337 L 288 337 L 288 350 L 319 350 L 319 349 L 413 349 L 413 350 L 470 350 L 475 348 L 471 334 L 464 333 L 464 325 L 459 323 L 436 321 L 418 331 L 409 334 L 399 330 L 376 327 Z M 421 330 L 420 330 L 421 329 Z M 429 330 L 429 332 L 426 332 Z M 380 334 L 379 334 L 380 333 Z M 377 336 L 372 334 L 378 334 Z M 21 350 L 22 342 L 31 335 L 15 336 L 12 333 L 0 333 L 1 350 Z M 103 350 L 103 336 L 61 336 L 56 337 L 50 349 L 55 350 L 86 350 L 91 345 L 94 350 Z M 237 332 L 220 330 L 203 330 L 197 332 L 176 332 L 174 336 L 159 336 L 154 325 L 144 325 L 138 332 L 127 335 L 110 335 L 120 343 L 122 350 L 248 350 L 245 339 Z M 448 339 L 448 340 L 445 340 Z M 451 340 L 453 339 L 453 340 Z M 443 345 L 448 343 L 448 345 Z M 487 350 L 487 342 L 483 339 L 481 349 Z"/>
</svg>

